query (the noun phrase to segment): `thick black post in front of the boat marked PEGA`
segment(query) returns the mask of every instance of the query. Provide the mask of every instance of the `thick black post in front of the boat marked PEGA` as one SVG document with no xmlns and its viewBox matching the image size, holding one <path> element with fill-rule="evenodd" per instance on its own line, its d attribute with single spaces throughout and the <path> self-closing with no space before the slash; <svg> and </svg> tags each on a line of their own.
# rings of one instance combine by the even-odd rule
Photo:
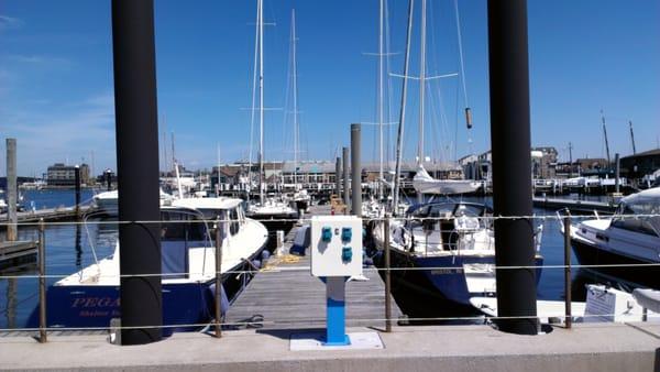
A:
<svg viewBox="0 0 660 372">
<path fill-rule="evenodd" d="M 153 0 L 112 1 L 120 221 L 157 221 L 158 122 Z M 119 225 L 121 341 L 162 338 L 160 223 Z M 147 276 L 140 276 L 146 274 Z M 128 276 L 127 276 L 128 275 Z M 136 275 L 136 276 L 131 276 Z M 138 327 L 138 328 L 132 328 Z"/>
</svg>

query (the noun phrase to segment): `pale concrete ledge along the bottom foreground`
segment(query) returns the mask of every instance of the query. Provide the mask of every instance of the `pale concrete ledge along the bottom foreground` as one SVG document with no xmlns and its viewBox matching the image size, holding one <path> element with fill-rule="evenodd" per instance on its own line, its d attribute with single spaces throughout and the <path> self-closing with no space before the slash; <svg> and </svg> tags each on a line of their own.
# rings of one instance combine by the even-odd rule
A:
<svg viewBox="0 0 660 372">
<path fill-rule="evenodd" d="M 364 329 L 351 329 L 364 331 Z M 659 371 L 660 325 L 592 324 L 516 336 L 488 326 L 395 327 L 385 349 L 289 351 L 301 330 L 175 333 L 145 346 L 103 336 L 0 338 L 0 369 L 144 371 Z"/>
</svg>

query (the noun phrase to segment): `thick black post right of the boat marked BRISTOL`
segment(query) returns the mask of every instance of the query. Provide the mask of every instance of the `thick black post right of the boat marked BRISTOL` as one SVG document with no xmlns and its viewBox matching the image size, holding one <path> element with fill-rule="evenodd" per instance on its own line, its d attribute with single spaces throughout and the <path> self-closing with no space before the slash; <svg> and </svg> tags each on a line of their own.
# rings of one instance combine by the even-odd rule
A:
<svg viewBox="0 0 660 372">
<path fill-rule="evenodd" d="M 531 216 L 531 156 L 529 129 L 529 69 L 527 1 L 488 1 L 488 59 L 491 76 L 491 145 L 493 149 L 493 205 L 495 263 L 534 266 Z M 536 271 L 498 269 L 499 329 L 536 335 Z M 521 317 L 521 318 L 510 318 Z"/>
</svg>

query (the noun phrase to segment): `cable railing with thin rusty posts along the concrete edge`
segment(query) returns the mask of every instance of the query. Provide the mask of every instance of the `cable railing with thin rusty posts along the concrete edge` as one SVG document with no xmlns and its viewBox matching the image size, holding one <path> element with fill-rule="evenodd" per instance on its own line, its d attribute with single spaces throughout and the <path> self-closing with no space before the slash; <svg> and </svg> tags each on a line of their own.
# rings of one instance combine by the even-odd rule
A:
<svg viewBox="0 0 660 372">
<path fill-rule="evenodd" d="M 440 234 L 440 237 L 442 237 L 443 233 L 452 233 L 455 232 L 454 230 L 451 229 L 440 229 L 440 225 L 438 222 L 443 222 L 443 221 L 453 221 L 455 220 L 457 217 L 441 217 L 441 216 L 432 216 L 432 217 L 377 217 L 377 218 L 363 218 L 363 221 L 369 225 L 369 226 L 377 226 L 377 225 L 382 225 L 382 227 L 380 227 L 381 230 L 381 236 L 382 236 L 382 242 L 381 242 L 381 247 L 380 251 L 383 252 L 383 254 L 385 254 L 386 259 L 385 262 L 382 266 L 371 266 L 371 267 L 364 267 L 365 272 L 377 272 L 377 273 L 382 273 L 383 276 L 385 276 L 385 282 L 386 282 L 386 309 L 385 309 L 385 317 L 374 317 L 374 318 L 360 318 L 360 319 L 346 319 L 348 324 L 352 324 L 352 322 L 366 322 L 366 321 L 385 321 L 387 325 L 387 330 L 391 329 L 391 324 L 393 321 L 397 321 L 397 318 L 393 318 L 392 317 L 392 311 L 389 309 L 391 304 L 387 304 L 389 302 L 389 296 L 392 294 L 392 284 L 389 283 L 392 281 L 391 278 L 391 273 L 396 273 L 396 272 L 404 272 L 404 271 L 410 271 L 410 272 L 425 272 L 425 271 L 443 271 L 443 270 L 453 270 L 453 271 L 459 271 L 459 272 L 464 272 L 463 267 L 458 267 L 455 265 L 430 265 L 430 266 L 413 266 L 413 267 L 400 267 L 400 266 L 392 266 L 391 262 L 388 262 L 387 255 L 389 255 L 389 249 L 384 249 L 384 247 L 392 247 L 392 234 L 391 233 L 383 233 L 383 231 L 391 231 L 391 223 L 393 221 L 396 221 L 400 225 L 414 225 L 414 223 L 418 223 L 416 227 L 417 228 L 421 228 L 421 231 L 428 231 L 428 227 L 430 225 L 427 225 L 425 227 L 425 221 L 432 221 L 433 226 L 432 226 L 432 233 L 438 233 Z M 575 318 L 574 315 L 572 315 L 572 309 L 571 309 L 571 281 L 572 281 L 572 276 L 571 276 L 571 270 L 574 269 L 625 269 L 625 270 L 635 270 L 635 269 L 644 269 L 644 267 L 656 267 L 656 266 L 660 266 L 660 260 L 658 262 L 647 262 L 647 263 L 595 263 L 595 264 L 573 264 L 571 262 L 571 238 L 572 234 L 575 232 L 575 227 L 571 226 L 571 221 L 574 220 L 585 220 L 585 219 L 593 219 L 593 216 L 554 216 L 554 215 L 534 215 L 534 216 L 507 216 L 507 217 L 499 217 L 499 216 L 471 216 L 470 218 L 479 221 L 479 228 L 475 228 L 475 231 L 479 231 L 480 229 L 484 229 L 487 227 L 487 229 L 492 229 L 493 227 L 493 222 L 496 220 L 530 220 L 530 221 L 540 221 L 540 223 L 544 223 L 547 220 L 552 220 L 552 221 L 557 221 L 561 223 L 562 229 L 560 230 L 560 232 L 563 234 L 564 237 L 564 241 L 563 241 L 563 245 L 564 245 L 564 264 L 532 264 L 532 265 L 496 265 L 495 262 L 493 261 L 492 263 L 487 263 L 488 265 L 488 271 L 494 273 L 497 270 L 538 270 L 538 269 L 542 269 L 542 270 L 563 270 L 564 271 L 564 292 L 565 292 L 565 311 L 563 311 L 563 314 L 542 314 L 542 315 L 536 315 L 536 316 L 518 316 L 518 317 L 502 317 L 502 316 L 488 316 L 488 317 L 484 317 L 484 316 L 444 316 L 444 317 L 413 317 L 413 318 L 406 318 L 407 321 L 452 321 L 452 320 L 459 320 L 459 321 L 485 321 L 485 319 L 487 319 L 488 321 L 496 321 L 499 319 L 538 319 L 539 316 L 543 316 L 543 317 L 553 317 L 553 318 L 559 318 L 559 319 L 563 319 L 564 324 L 568 328 L 571 327 L 571 322 L 572 320 Z M 632 220 L 647 220 L 647 219 L 658 219 L 660 218 L 660 215 L 657 214 L 647 214 L 647 215 L 617 215 L 616 219 L 619 220 L 626 220 L 626 219 L 632 219 Z M 270 220 L 270 221 L 290 221 L 290 219 L 274 219 L 274 220 Z M 311 221 L 311 219 L 300 219 L 298 220 L 298 222 L 300 223 L 309 223 Z M 324 318 L 305 318 L 305 319 L 296 319 L 296 320 L 286 320 L 286 319 L 268 319 L 268 320 L 261 320 L 261 321 L 223 321 L 221 318 L 221 316 L 217 316 L 212 321 L 210 322 L 198 322 L 198 324 L 186 324 L 186 325 L 163 325 L 163 326 L 141 326 L 141 327 L 47 327 L 45 324 L 45 319 L 46 319 L 46 308 L 45 306 L 42 306 L 41 304 L 45 303 L 45 281 L 46 280 L 63 280 L 65 277 L 68 277 L 69 275 L 72 275 L 72 273 L 68 274 L 64 274 L 64 273 L 50 273 L 46 274 L 46 262 L 45 260 L 43 260 L 43 258 L 45 258 L 45 248 L 46 248 L 46 226 L 78 226 L 78 225 L 89 225 L 89 226 L 101 226 L 101 225 L 112 225 L 112 226 L 117 226 L 119 227 L 120 225 L 163 225 L 163 223 L 206 223 L 208 227 L 213 228 L 216 230 L 216 249 L 217 252 L 219 252 L 221 255 L 222 254 L 222 247 L 219 245 L 218 242 L 220 242 L 222 239 L 220 238 L 220 228 L 218 227 L 222 227 L 223 225 L 228 225 L 231 222 L 235 222 L 234 220 L 231 219 L 217 219 L 217 220 L 151 220 L 151 221 L 101 221 L 101 220 L 92 220 L 92 221 L 68 221 L 68 222 L 64 222 L 64 221 L 58 221 L 58 222 L 44 222 L 44 221 L 40 221 L 40 222 L 21 222 L 19 223 L 19 226 L 23 226 L 23 227 L 34 227 L 36 226 L 38 228 L 40 231 L 40 239 L 38 239 L 38 248 L 40 248 L 40 253 L 38 253 L 38 273 L 37 274 L 0 274 L 0 280 L 34 280 L 37 278 L 40 282 L 40 307 L 43 307 L 43 309 L 41 310 L 42 314 L 42 321 L 40 322 L 40 327 L 38 328 L 0 328 L 0 331 L 2 332 L 10 332 L 10 331 L 40 331 L 41 335 L 43 335 L 43 340 L 45 341 L 46 337 L 45 333 L 47 331 L 68 331 L 68 330 L 109 330 L 109 329 L 132 329 L 132 328 L 204 328 L 204 327 L 209 327 L 209 326 L 215 326 L 217 328 L 217 331 L 219 332 L 219 329 L 221 327 L 246 327 L 246 326 L 278 326 L 278 325 L 290 325 L 290 324 L 309 324 L 309 322 L 322 322 L 324 321 Z M 0 223 L 0 226 L 6 226 L 8 225 L 8 222 L 2 222 Z M 378 227 L 375 227 L 374 229 L 377 229 Z M 436 229 L 438 228 L 438 229 Z M 427 230 L 425 230 L 427 229 Z M 530 223 L 530 229 L 532 229 L 532 231 L 535 231 L 535 226 L 534 223 Z M 660 233 L 658 233 L 658 231 L 653 230 L 654 227 L 652 225 L 649 226 L 649 228 L 647 229 L 647 233 L 652 236 L 652 232 L 656 232 L 656 238 L 660 239 Z M 419 229 L 418 229 L 419 230 Z M 87 233 L 89 234 L 89 231 L 87 231 Z M 473 233 L 473 232 L 466 232 L 469 233 Z M 413 233 L 411 233 L 413 234 Z M 210 242 L 211 244 L 213 243 L 212 241 Z M 417 242 L 418 244 L 421 244 L 420 242 Z M 458 243 L 453 243 L 455 244 L 453 248 L 449 248 L 449 252 L 453 252 L 453 254 L 459 254 L 457 251 L 457 247 Z M 425 245 L 425 244 L 421 244 Z M 428 245 L 428 242 L 426 243 L 426 245 Z M 441 244 L 440 244 L 441 245 Z M 415 245 L 413 245 L 415 247 Z M 494 244 L 492 247 L 488 248 L 490 250 L 492 250 L 493 252 L 494 250 Z M 660 259 L 660 247 L 657 248 L 657 250 L 659 252 L 657 252 L 659 254 L 659 259 Z M 375 251 L 378 251 L 377 249 L 375 249 Z M 413 252 L 415 254 L 419 254 L 420 256 L 425 256 L 425 254 L 429 254 L 428 252 L 422 252 L 422 251 L 415 251 Z M 541 252 L 542 253 L 542 252 Z M 217 258 L 218 260 L 218 258 Z M 220 267 L 220 263 L 221 263 L 221 258 L 220 261 L 218 262 L 218 267 Z M 58 264 L 54 263 L 51 265 L 51 267 L 53 266 L 57 266 Z M 63 264 L 59 264 L 62 266 L 64 266 Z M 97 263 L 98 265 L 98 263 Z M 213 277 L 216 277 L 217 280 L 220 281 L 221 284 L 221 276 L 222 275 L 241 275 L 241 274 L 249 274 L 249 275 L 254 275 L 256 273 L 258 273 L 258 275 L 268 275 L 268 274 L 275 274 L 275 273 L 279 273 L 279 272 L 301 272 L 301 271 L 309 271 L 309 266 L 307 265 L 296 265 L 296 266 L 268 266 L 268 267 L 256 267 L 254 265 L 248 265 L 246 270 L 215 270 L 215 271 L 202 271 L 202 272 L 196 272 L 196 271 L 187 271 L 187 272 L 177 272 L 177 273 L 145 273 L 145 274 L 116 274 L 116 275 L 103 275 L 103 274 L 99 274 L 96 275 L 97 278 L 125 278 L 125 277 L 162 277 L 164 281 L 167 281 L 169 277 L 180 277 L 182 275 L 189 275 L 189 276 L 204 276 L 207 280 L 212 280 Z M 22 302 L 25 302 L 25 299 L 23 299 Z M 646 309 L 645 309 L 645 318 L 659 318 L 660 315 L 658 314 L 646 314 Z M 603 318 L 603 317 L 615 317 L 617 316 L 617 314 L 598 314 L 598 315 L 590 315 L 590 314 L 584 314 L 584 315 L 580 315 L 578 316 L 579 318 L 582 319 L 587 319 L 591 317 L 598 317 L 598 318 Z"/>
</svg>

